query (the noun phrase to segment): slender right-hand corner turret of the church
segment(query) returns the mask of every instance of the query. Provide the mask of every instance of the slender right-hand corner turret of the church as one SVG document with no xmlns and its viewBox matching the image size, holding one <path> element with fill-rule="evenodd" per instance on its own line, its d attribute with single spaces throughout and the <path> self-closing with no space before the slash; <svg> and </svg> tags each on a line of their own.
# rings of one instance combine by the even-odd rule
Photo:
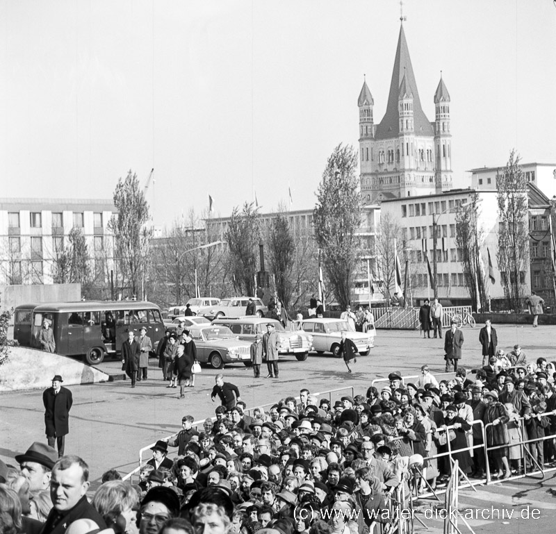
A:
<svg viewBox="0 0 556 534">
<path fill-rule="evenodd" d="M 438 190 L 452 187 L 452 134 L 450 133 L 450 94 L 440 75 L 440 81 L 434 93 L 434 151 L 436 159 L 436 188 Z"/>
</svg>

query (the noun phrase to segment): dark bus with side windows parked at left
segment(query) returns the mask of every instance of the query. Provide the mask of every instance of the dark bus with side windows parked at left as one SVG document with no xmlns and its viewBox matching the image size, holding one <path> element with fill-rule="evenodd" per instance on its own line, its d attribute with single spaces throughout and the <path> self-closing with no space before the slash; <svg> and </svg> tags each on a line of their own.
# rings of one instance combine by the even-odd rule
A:
<svg viewBox="0 0 556 534">
<path fill-rule="evenodd" d="M 139 335 L 143 326 L 153 347 L 164 336 L 160 308 L 145 301 L 79 301 L 31 303 L 14 310 L 14 339 L 22 347 L 40 349 L 38 335 L 44 319 L 50 322 L 56 353 L 85 357 L 98 365 L 108 355 L 119 357 L 131 329 Z"/>
</svg>

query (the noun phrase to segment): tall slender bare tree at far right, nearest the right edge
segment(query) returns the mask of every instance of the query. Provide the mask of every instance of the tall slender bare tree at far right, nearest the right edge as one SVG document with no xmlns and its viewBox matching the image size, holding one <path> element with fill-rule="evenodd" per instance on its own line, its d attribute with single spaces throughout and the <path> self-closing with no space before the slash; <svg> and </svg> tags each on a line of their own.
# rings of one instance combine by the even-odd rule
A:
<svg viewBox="0 0 556 534">
<path fill-rule="evenodd" d="M 507 306 L 518 311 L 527 292 L 525 273 L 530 265 L 527 178 L 512 150 L 505 169 L 498 172 L 498 269 Z"/>
</svg>

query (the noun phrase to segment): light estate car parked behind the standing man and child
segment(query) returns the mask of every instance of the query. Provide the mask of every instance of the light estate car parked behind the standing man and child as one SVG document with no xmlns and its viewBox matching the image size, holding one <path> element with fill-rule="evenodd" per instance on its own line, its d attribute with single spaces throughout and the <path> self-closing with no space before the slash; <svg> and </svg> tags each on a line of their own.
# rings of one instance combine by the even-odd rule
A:
<svg viewBox="0 0 556 534">
<path fill-rule="evenodd" d="M 313 337 L 302 330 L 288 331 L 276 319 L 264 317 L 218 317 L 213 324 L 227 326 L 240 340 L 254 342 L 257 334 L 266 333 L 266 325 L 272 323 L 280 338 L 279 354 L 294 354 L 300 362 L 304 362 L 313 350 Z"/>
</svg>

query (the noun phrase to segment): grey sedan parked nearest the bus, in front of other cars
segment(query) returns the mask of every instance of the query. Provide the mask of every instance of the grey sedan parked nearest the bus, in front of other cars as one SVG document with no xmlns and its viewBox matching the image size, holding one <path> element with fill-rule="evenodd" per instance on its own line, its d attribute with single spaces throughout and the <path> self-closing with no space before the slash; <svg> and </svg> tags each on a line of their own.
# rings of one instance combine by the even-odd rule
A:
<svg viewBox="0 0 556 534">
<path fill-rule="evenodd" d="M 208 363 L 214 369 L 236 362 L 251 365 L 251 343 L 239 340 L 226 326 L 192 326 L 189 331 L 197 347 L 199 363 Z"/>
</svg>

